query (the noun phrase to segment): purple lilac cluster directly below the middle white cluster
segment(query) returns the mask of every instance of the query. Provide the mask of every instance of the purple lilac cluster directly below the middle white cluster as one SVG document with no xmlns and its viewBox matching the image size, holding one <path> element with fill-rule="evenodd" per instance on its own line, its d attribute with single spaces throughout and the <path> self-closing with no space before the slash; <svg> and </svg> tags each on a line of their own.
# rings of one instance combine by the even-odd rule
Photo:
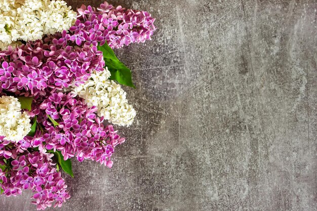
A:
<svg viewBox="0 0 317 211">
<path fill-rule="evenodd" d="M 73 98 L 71 93 L 53 93 L 33 110 L 45 128 L 41 137 L 44 147 L 61 151 L 65 160 L 76 156 L 79 161 L 91 159 L 111 167 L 114 147 L 125 139 L 116 134 L 112 125 L 105 127 L 96 110 L 89 108 L 83 99 Z"/>
</svg>

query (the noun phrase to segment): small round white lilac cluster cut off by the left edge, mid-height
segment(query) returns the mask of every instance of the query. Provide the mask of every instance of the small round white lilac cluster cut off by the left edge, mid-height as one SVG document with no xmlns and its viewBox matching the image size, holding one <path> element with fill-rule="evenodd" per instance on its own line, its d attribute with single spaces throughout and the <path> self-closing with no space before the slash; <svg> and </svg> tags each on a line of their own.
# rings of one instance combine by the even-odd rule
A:
<svg viewBox="0 0 317 211">
<path fill-rule="evenodd" d="M 21 112 L 21 104 L 17 98 L 0 98 L 0 136 L 5 136 L 5 140 L 22 140 L 31 131 L 29 118 L 26 112 Z"/>
</svg>

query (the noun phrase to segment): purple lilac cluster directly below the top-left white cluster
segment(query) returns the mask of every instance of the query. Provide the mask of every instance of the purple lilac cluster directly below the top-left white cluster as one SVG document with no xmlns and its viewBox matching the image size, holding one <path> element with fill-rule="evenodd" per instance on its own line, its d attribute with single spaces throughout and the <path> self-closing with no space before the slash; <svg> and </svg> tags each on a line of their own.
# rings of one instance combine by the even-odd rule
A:
<svg viewBox="0 0 317 211">
<path fill-rule="evenodd" d="M 57 36 L 59 37 L 59 36 Z M 46 96 L 87 80 L 93 70 L 104 70 L 97 47 L 68 45 L 54 36 L 0 52 L 0 91 Z"/>
</svg>

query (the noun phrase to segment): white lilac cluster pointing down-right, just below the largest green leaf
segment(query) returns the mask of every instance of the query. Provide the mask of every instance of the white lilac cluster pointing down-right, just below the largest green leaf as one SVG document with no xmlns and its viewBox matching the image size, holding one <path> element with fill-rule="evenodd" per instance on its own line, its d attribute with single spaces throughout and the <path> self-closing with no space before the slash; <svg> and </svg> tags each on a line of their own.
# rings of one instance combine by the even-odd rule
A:
<svg viewBox="0 0 317 211">
<path fill-rule="evenodd" d="M 128 104 L 127 93 L 113 80 L 108 80 L 109 77 L 108 68 L 101 72 L 94 71 L 84 84 L 79 87 L 73 85 L 72 93 L 83 98 L 89 107 L 96 106 L 98 115 L 109 122 L 131 125 L 136 112 Z"/>
</svg>

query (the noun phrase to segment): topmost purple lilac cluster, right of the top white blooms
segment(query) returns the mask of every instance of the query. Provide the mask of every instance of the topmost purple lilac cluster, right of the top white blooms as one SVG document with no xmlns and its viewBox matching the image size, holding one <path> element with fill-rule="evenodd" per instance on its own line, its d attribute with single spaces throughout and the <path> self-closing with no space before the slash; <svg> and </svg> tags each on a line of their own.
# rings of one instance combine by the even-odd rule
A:
<svg viewBox="0 0 317 211">
<path fill-rule="evenodd" d="M 75 41 L 78 46 L 82 43 L 102 46 L 107 42 L 111 48 L 122 48 L 151 39 L 156 29 L 154 21 L 148 12 L 115 8 L 107 2 L 97 10 L 83 5 L 78 9 L 75 25 L 70 27 L 71 33 L 63 33 L 61 41 Z"/>
</svg>

